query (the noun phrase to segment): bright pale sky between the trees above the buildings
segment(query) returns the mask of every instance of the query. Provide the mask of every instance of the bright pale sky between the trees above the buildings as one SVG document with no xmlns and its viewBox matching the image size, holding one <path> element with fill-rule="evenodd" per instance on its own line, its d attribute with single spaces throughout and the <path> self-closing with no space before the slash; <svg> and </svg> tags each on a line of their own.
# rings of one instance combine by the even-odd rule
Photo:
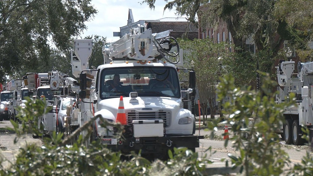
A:
<svg viewBox="0 0 313 176">
<path fill-rule="evenodd" d="M 139 20 L 156 20 L 165 17 L 178 17 L 175 10 L 163 8 L 166 4 L 164 0 L 156 0 L 155 9 L 150 10 L 147 4 L 142 4 L 142 0 L 92 0 L 91 4 L 98 13 L 95 18 L 86 22 L 87 30 L 81 34 L 85 36 L 99 35 L 107 38 L 107 42 L 114 42 L 119 37 L 113 37 L 113 32 L 120 32 L 120 27 L 126 26 L 128 19 L 128 9 L 132 10 L 134 22 Z"/>
</svg>

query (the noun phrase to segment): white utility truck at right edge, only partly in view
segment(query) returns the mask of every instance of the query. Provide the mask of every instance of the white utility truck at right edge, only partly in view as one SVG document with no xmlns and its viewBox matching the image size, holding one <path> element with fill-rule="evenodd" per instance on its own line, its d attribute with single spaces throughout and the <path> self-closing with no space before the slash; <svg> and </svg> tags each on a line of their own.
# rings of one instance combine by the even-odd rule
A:
<svg viewBox="0 0 313 176">
<path fill-rule="evenodd" d="M 298 63 L 298 73 L 294 73 L 294 61 L 280 61 L 277 68 L 278 84 L 277 103 L 289 101 L 289 94 L 294 93 L 296 104 L 284 111 L 285 123 L 277 130 L 285 138 L 286 144 L 303 145 L 301 128 L 313 125 L 313 62 Z"/>
</svg>

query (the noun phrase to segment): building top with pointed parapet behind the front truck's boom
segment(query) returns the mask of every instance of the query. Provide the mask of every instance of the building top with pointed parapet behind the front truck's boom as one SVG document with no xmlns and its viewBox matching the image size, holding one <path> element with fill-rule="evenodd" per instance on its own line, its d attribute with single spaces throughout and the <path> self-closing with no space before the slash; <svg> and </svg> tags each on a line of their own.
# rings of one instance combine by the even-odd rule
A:
<svg viewBox="0 0 313 176">
<path fill-rule="evenodd" d="M 152 33 L 162 33 L 159 35 L 159 39 L 164 37 L 181 38 L 186 32 L 188 39 L 198 38 L 198 28 L 185 18 L 162 18 L 134 22 L 131 9 L 128 11 L 127 25 L 120 27 L 120 32 L 113 32 L 113 36 L 121 38 L 125 34 L 130 33 L 131 28 L 136 28 L 138 25 L 144 25 L 145 23 L 149 23 Z"/>
</svg>

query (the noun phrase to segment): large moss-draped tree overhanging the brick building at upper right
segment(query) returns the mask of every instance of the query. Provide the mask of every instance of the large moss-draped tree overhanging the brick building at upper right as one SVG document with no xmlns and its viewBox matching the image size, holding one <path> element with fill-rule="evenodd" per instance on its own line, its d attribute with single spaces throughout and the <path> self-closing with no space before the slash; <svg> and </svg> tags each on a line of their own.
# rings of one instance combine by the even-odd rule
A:
<svg viewBox="0 0 313 176">
<path fill-rule="evenodd" d="M 155 1 L 145 0 L 143 3 L 153 9 Z M 256 50 L 260 52 L 253 57 L 257 60 L 266 58 L 264 64 L 260 64 L 262 71 L 271 72 L 275 59 L 285 55 L 280 49 L 285 40 L 290 41 L 290 47 L 302 53 L 299 54 L 301 59 L 312 60 L 312 50 L 308 47 L 313 37 L 311 0 L 165 1 L 167 4 L 164 10 L 174 9 L 177 15 L 186 15 L 192 22 L 196 22 L 199 16 L 200 25 L 204 29 L 226 22 L 235 50 L 239 53 L 243 52 L 246 39 L 252 37 Z M 243 53 L 243 57 L 244 55 L 246 54 Z M 246 60 L 249 57 L 251 56 Z"/>
</svg>

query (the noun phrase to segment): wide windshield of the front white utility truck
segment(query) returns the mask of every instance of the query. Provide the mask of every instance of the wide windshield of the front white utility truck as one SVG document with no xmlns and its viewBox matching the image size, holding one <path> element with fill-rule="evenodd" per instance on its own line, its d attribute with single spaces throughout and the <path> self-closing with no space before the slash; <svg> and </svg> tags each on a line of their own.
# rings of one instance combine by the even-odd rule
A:
<svg viewBox="0 0 313 176">
<path fill-rule="evenodd" d="M 129 96 L 176 97 L 180 95 L 177 70 L 173 67 L 116 67 L 104 69 L 100 75 L 100 97 L 107 99 Z"/>
</svg>

